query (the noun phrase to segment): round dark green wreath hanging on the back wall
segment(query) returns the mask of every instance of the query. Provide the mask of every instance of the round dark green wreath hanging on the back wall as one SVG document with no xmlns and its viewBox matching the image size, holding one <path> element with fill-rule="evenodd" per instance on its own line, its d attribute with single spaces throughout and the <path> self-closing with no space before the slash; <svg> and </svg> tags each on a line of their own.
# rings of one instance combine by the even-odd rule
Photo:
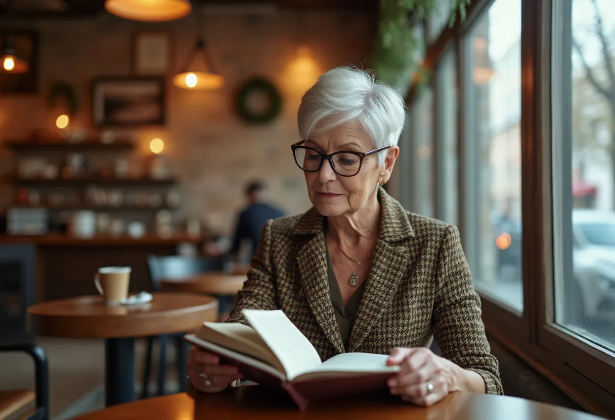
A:
<svg viewBox="0 0 615 420">
<path fill-rule="evenodd" d="M 264 111 L 254 111 L 248 106 L 248 98 L 255 91 L 261 91 L 268 96 L 269 107 Z M 282 109 L 282 96 L 277 88 L 262 77 L 255 77 L 245 82 L 237 91 L 235 109 L 239 117 L 249 123 L 263 124 L 276 119 Z"/>
</svg>

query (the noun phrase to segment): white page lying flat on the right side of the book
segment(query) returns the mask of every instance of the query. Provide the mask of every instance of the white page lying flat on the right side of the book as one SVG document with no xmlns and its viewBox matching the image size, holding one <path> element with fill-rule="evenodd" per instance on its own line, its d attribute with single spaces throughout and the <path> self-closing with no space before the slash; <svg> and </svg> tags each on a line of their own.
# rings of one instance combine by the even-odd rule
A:
<svg viewBox="0 0 615 420">
<path fill-rule="evenodd" d="M 325 360 L 317 367 L 312 368 L 298 379 L 315 378 L 319 376 L 340 376 L 344 374 L 361 373 L 394 373 L 399 370 L 399 366 L 387 366 L 387 354 L 372 353 L 342 353 L 336 354 L 331 359 Z M 335 375 L 334 375 L 335 374 Z"/>
</svg>

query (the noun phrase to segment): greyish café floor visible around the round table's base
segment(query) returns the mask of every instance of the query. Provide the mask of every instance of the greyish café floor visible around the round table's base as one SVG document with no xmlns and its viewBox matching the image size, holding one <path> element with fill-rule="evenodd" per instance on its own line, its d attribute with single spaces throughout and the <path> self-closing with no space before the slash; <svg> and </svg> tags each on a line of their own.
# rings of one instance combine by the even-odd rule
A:
<svg viewBox="0 0 615 420">
<path fill-rule="evenodd" d="M 50 418 L 74 405 L 85 395 L 100 395 L 105 381 L 105 348 L 103 340 L 74 340 L 71 338 L 40 337 L 36 340 L 46 352 L 49 362 Z M 154 360 L 157 360 L 157 346 L 154 346 Z M 167 360 L 175 360 L 173 346 L 167 350 Z M 135 344 L 137 382 L 143 375 L 145 341 Z M 167 368 L 169 381 L 177 382 L 172 365 Z M 156 364 L 152 368 L 150 381 L 156 381 Z M 34 364 L 30 356 L 20 353 L 0 355 L 0 389 L 34 387 Z M 150 386 L 154 389 L 154 386 Z M 94 392 L 92 392 L 94 391 Z M 100 397 L 85 399 L 93 405 L 100 403 Z M 83 405 L 84 400 L 81 401 Z M 87 407 L 86 407 L 87 408 Z M 94 407 L 92 407 L 94 408 Z M 96 407 L 98 408 L 98 407 Z"/>
</svg>

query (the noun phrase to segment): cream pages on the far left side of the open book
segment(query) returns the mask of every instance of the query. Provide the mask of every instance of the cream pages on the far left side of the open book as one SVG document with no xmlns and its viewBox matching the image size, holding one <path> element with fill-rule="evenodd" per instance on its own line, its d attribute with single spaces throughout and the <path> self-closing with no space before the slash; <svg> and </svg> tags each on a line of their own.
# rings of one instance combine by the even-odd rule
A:
<svg viewBox="0 0 615 420">
<path fill-rule="evenodd" d="M 284 367 L 267 343 L 251 327 L 237 322 L 204 322 L 196 333 L 202 340 L 211 341 L 220 346 L 242 352 L 248 356 L 263 360 L 286 375 Z"/>
</svg>

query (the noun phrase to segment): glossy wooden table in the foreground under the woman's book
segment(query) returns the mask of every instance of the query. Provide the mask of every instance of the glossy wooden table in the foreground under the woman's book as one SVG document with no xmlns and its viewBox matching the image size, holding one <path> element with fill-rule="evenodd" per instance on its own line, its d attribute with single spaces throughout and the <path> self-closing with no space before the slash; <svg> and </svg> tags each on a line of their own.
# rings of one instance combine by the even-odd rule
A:
<svg viewBox="0 0 615 420">
<path fill-rule="evenodd" d="M 261 386 L 231 388 L 220 394 L 174 394 L 96 411 L 79 420 L 103 419 L 335 419 L 335 420 L 597 420 L 596 416 L 545 403 L 491 394 L 457 392 L 428 407 L 381 393 L 313 402 L 299 411 L 284 394 Z"/>
</svg>

